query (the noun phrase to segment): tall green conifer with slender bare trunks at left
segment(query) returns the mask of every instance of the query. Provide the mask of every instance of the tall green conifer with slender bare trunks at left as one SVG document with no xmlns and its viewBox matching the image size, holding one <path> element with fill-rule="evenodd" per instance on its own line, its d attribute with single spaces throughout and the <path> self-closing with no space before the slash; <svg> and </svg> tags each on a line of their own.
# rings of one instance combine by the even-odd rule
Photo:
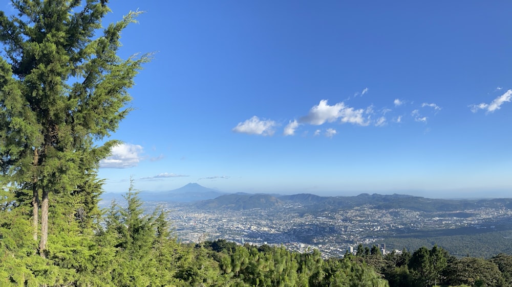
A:
<svg viewBox="0 0 512 287">
<path fill-rule="evenodd" d="M 99 160 L 118 143 L 95 142 L 130 111 L 127 89 L 150 58 L 117 56 L 120 33 L 139 12 L 101 32 L 107 2 L 12 0 L 16 14 L 0 11 L 0 184 L 32 206 L 32 237 L 41 256 L 50 197 L 80 198 L 76 217 L 88 224 L 91 193 L 99 188 L 87 187 L 99 184 Z"/>
</svg>

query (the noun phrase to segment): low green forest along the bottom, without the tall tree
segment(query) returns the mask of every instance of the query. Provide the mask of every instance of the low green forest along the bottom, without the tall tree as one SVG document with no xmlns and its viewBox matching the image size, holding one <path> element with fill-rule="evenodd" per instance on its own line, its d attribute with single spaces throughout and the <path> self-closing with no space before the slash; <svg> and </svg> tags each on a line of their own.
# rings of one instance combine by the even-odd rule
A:
<svg viewBox="0 0 512 287">
<path fill-rule="evenodd" d="M 512 286 L 512 256 L 505 254 L 458 258 L 434 246 L 382 255 L 376 246 L 359 245 L 356 254 L 324 259 L 317 250 L 225 240 L 183 244 L 165 212 L 144 214 L 133 189 L 125 197 L 127 205 L 113 202 L 94 220 L 52 201 L 45 256 L 36 253 L 30 213 L 4 203 L 0 285 Z"/>
</svg>

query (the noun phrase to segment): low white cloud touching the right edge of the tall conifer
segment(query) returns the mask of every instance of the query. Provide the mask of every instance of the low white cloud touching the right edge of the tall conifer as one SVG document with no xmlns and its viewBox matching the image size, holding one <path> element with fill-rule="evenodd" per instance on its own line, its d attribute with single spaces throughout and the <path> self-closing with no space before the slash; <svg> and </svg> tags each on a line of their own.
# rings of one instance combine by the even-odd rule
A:
<svg viewBox="0 0 512 287">
<path fill-rule="evenodd" d="M 142 146 L 131 143 L 121 143 L 112 148 L 111 155 L 100 160 L 100 168 L 104 169 L 126 169 L 137 166 L 143 152 Z"/>
</svg>

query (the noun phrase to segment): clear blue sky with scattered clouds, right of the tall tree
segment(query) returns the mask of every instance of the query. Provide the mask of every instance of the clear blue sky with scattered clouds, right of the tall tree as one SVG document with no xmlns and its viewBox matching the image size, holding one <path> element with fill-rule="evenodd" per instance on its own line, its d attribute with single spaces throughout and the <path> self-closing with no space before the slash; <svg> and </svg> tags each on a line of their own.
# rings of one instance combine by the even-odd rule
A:
<svg viewBox="0 0 512 287">
<path fill-rule="evenodd" d="M 106 192 L 510 196 L 508 1 L 111 1 L 156 52 Z M 105 23 L 106 23 L 105 22 Z"/>
</svg>

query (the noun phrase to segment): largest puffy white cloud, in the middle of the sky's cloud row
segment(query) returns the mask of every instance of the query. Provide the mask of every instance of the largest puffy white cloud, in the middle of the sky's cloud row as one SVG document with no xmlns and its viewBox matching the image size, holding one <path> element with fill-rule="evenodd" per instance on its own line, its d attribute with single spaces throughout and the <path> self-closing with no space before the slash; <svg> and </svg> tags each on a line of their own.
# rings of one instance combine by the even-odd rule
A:
<svg viewBox="0 0 512 287">
<path fill-rule="evenodd" d="M 367 126 L 368 122 L 362 117 L 365 110 L 350 108 L 345 106 L 343 102 L 337 103 L 334 106 L 329 106 L 327 100 L 322 100 L 316 106 L 313 106 L 308 115 L 300 118 L 301 122 L 311 125 L 319 126 L 325 122 L 334 122 L 336 119 L 341 118 L 342 123 L 352 123 L 360 126 Z"/>
</svg>

